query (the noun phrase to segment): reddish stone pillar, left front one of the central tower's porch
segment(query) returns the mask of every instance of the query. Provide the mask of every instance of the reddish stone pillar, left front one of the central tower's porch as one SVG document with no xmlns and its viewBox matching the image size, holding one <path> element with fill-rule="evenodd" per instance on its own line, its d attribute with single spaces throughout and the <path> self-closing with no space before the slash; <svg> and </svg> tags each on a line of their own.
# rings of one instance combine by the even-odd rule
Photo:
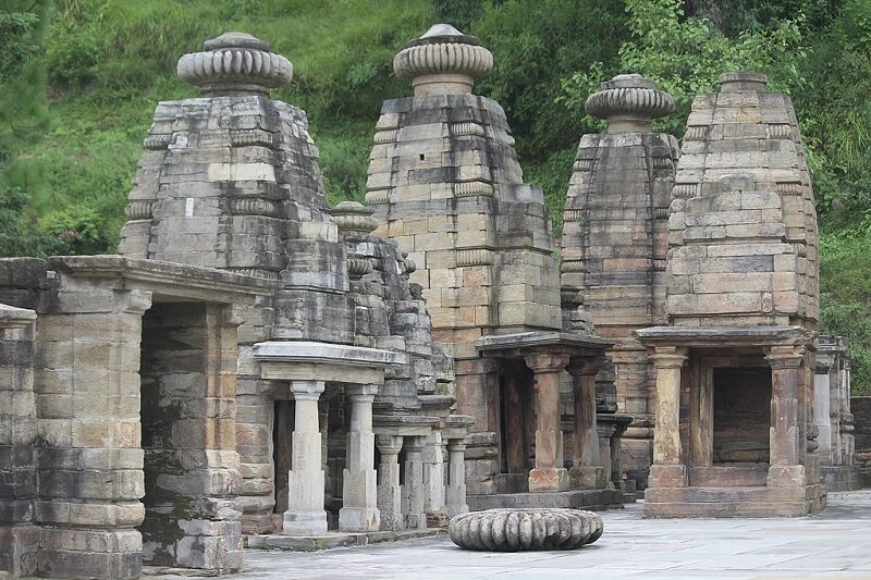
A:
<svg viewBox="0 0 871 580">
<path fill-rule="evenodd" d="M 568 489 L 568 472 L 563 467 L 560 371 L 568 365 L 568 356 L 529 355 L 526 365 L 536 373 L 536 467 L 529 471 L 529 491 L 562 492 Z"/>
</svg>

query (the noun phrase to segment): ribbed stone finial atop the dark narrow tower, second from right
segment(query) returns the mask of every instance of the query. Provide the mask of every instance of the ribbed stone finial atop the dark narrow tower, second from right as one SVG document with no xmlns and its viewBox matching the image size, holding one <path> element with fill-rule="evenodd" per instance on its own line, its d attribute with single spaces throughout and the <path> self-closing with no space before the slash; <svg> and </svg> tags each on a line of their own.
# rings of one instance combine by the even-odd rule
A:
<svg viewBox="0 0 871 580">
<path fill-rule="evenodd" d="M 619 74 L 602 83 L 584 109 L 606 119 L 609 133 L 647 133 L 653 119 L 674 111 L 674 99 L 640 74 Z"/>
</svg>

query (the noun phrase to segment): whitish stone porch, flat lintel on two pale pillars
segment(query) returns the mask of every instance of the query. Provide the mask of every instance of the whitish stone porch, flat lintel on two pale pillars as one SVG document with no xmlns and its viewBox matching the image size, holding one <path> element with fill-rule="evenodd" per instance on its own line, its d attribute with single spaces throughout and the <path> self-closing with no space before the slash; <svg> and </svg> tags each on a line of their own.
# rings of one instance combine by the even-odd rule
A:
<svg viewBox="0 0 871 580">
<path fill-rule="evenodd" d="M 318 399 L 327 383 L 341 383 L 349 399 L 351 425 L 343 473 L 339 529 L 373 532 L 381 527 L 375 470 L 376 435 L 372 402 L 384 384 L 388 367 L 405 363 L 406 355 L 378 348 L 315 343 L 269 341 L 254 345 L 260 377 L 290 381 L 295 414 L 292 467 L 289 474 L 284 535 L 324 535 L 324 471 Z"/>
</svg>

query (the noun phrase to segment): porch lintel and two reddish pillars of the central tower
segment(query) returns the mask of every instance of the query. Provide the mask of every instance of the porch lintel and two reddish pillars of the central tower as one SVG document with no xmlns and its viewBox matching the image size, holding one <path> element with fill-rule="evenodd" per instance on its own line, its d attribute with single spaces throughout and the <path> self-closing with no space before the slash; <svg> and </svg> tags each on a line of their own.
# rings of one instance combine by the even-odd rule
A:
<svg viewBox="0 0 871 580">
<path fill-rule="evenodd" d="M 596 422 L 596 373 L 613 343 L 594 336 L 563 332 L 525 332 L 484 336 L 477 343 L 486 358 L 522 359 L 535 373 L 536 466 L 529 471 L 530 492 L 569 489 L 564 467 L 560 414 L 560 373 L 567 371 L 575 390 L 575 481 L 604 481 Z M 493 425 L 500 431 L 500 425 Z"/>
</svg>

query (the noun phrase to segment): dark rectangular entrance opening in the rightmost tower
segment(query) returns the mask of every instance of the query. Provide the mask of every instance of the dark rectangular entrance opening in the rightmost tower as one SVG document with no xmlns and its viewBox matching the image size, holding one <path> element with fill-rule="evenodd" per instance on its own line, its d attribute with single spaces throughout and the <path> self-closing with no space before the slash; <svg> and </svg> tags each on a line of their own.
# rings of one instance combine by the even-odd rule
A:
<svg viewBox="0 0 871 580">
<path fill-rule="evenodd" d="M 771 369 L 714 368 L 713 464 L 768 464 Z"/>
</svg>

